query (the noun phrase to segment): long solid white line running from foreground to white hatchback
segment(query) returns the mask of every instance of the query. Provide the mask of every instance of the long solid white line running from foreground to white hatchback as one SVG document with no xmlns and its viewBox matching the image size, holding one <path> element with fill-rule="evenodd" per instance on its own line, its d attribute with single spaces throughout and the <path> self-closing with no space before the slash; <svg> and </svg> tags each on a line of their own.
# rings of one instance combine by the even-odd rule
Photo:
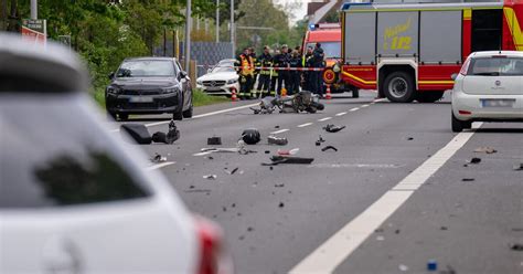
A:
<svg viewBox="0 0 523 274">
<path fill-rule="evenodd" d="M 473 125 L 481 127 L 481 123 Z M 410 172 L 355 219 L 322 243 L 289 273 L 332 273 L 374 230 L 386 221 L 472 137 L 474 131 L 458 134 L 444 148 Z"/>
</svg>

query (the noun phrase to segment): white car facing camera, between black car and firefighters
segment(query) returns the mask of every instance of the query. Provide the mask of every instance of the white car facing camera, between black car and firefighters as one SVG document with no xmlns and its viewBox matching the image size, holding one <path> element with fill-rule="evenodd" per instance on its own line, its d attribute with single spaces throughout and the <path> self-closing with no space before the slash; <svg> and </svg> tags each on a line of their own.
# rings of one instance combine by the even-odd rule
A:
<svg viewBox="0 0 523 274">
<path fill-rule="evenodd" d="M 234 59 L 220 61 L 207 74 L 196 80 L 196 87 L 209 94 L 231 95 L 231 88 L 239 91 L 238 74 L 234 70 Z"/>
</svg>

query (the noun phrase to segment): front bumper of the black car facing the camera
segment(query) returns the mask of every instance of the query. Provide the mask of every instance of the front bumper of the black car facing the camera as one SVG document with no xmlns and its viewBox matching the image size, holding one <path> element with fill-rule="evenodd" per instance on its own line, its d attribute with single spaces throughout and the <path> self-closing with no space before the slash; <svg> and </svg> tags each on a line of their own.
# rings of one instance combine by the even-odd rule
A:
<svg viewBox="0 0 523 274">
<path fill-rule="evenodd" d="M 132 102 L 136 97 L 147 102 Z M 178 112 L 180 107 L 183 106 L 178 93 L 148 96 L 108 94 L 106 96 L 106 108 L 110 113 L 162 114 Z"/>
</svg>

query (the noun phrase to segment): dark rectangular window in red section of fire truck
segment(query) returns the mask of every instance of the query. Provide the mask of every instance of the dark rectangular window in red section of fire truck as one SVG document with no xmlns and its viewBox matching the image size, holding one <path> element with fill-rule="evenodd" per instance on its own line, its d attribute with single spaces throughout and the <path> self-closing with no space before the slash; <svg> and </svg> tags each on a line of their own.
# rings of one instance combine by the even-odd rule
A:
<svg viewBox="0 0 523 274">
<path fill-rule="evenodd" d="M 502 10 L 472 11 L 472 52 L 501 50 Z"/>
</svg>

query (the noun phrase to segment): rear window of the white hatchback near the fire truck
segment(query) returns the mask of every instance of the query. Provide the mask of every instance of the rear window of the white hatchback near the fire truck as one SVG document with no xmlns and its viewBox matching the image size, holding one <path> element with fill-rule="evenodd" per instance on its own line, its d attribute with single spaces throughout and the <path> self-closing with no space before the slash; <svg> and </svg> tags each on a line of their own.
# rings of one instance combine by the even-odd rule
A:
<svg viewBox="0 0 523 274">
<path fill-rule="evenodd" d="M 523 75 L 523 59 L 504 56 L 472 59 L 470 75 L 520 76 Z"/>
</svg>

